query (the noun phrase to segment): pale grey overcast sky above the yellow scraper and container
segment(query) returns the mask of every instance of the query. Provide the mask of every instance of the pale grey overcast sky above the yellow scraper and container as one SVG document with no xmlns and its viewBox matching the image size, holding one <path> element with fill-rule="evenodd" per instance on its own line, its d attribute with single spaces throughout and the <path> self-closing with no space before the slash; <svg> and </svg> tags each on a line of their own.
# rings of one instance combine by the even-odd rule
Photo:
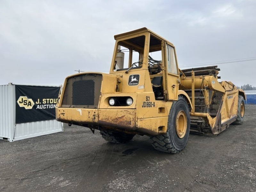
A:
<svg viewBox="0 0 256 192">
<path fill-rule="evenodd" d="M 256 86 L 255 0 L 0 0 L 0 84 L 108 73 L 114 35 L 142 27 L 175 45 L 181 69 L 253 58 L 218 67 L 220 80 Z"/>
</svg>

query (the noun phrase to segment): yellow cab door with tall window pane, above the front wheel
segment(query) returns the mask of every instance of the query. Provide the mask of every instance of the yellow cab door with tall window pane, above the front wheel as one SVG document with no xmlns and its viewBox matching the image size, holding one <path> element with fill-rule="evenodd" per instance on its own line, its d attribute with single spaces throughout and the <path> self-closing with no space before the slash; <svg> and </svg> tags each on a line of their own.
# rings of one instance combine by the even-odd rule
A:
<svg viewBox="0 0 256 192">
<path fill-rule="evenodd" d="M 162 42 L 162 55 L 164 58 L 164 98 L 165 100 L 178 100 L 179 68 L 176 59 L 175 47 Z"/>
</svg>

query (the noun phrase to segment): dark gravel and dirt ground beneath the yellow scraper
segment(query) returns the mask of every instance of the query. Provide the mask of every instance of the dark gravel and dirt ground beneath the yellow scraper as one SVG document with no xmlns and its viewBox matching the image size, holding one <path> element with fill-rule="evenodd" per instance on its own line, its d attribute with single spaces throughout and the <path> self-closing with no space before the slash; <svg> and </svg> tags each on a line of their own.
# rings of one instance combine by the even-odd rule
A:
<svg viewBox="0 0 256 192">
<path fill-rule="evenodd" d="M 149 137 L 111 144 L 88 128 L 26 140 L 0 140 L 0 191 L 256 191 L 256 106 L 218 136 L 189 135 L 178 154 Z"/>
</svg>

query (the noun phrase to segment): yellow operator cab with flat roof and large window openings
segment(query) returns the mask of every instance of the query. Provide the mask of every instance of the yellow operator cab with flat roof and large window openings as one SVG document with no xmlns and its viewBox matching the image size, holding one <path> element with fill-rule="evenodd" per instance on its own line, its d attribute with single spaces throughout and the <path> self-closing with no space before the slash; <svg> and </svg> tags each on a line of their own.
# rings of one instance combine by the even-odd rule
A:
<svg viewBox="0 0 256 192">
<path fill-rule="evenodd" d="M 147 70 L 155 98 L 164 100 L 164 90 L 167 90 L 168 81 L 171 82 L 169 74 L 179 78 L 174 46 L 147 28 L 116 35 L 115 39 L 110 73 Z M 171 98 L 177 98 L 175 95 Z"/>
</svg>

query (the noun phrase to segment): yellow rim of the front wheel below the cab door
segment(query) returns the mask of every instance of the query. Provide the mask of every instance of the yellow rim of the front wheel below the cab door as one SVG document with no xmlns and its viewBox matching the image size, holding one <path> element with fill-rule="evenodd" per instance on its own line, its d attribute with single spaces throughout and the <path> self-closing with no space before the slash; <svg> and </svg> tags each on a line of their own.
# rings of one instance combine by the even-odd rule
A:
<svg viewBox="0 0 256 192">
<path fill-rule="evenodd" d="M 176 117 L 176 133 L 179 138 L 183 138 L 187 131 L 187 116 L 184 111 L 180 111 Z"/>
</svg>

